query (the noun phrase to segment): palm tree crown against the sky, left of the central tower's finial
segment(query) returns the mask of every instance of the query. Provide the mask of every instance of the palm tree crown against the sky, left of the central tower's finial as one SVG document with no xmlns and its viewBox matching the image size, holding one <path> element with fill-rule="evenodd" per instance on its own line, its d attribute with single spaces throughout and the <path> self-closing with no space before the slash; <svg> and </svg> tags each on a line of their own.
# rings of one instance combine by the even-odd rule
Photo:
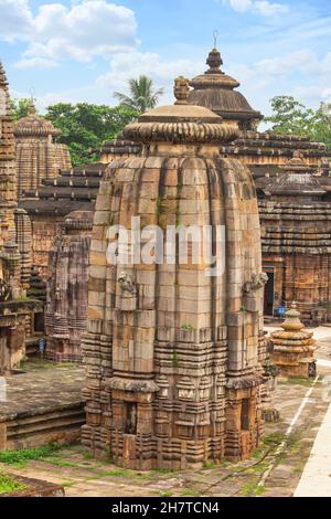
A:
<svg viewBox="0 0 331 519">
<path fill-rule="evenodd" d="M 163 88 L 154 92 L 153 82 L 150 77 L 139 76 L 138 80 L 129 80 L 130 96 L 115 92 L 115 97 L 119 100 L 121 106 L 132 108 L 138 112 L 146 112 L 154 108 L 159 102 L 160 95 L 163 94 Z"/>
</svg>

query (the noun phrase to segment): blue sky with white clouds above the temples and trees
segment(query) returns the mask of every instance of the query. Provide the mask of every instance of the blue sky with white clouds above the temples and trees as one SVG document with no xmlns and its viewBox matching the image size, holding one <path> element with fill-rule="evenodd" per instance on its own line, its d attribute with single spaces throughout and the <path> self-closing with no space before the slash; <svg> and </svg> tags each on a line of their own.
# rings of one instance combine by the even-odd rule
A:
<svg viewBox="0 0 331 519">
<path fill-rule="evenodd" d="M 166 87 L 205 70 L 218 31 L 223 70 L 252 106 L 274 95 L 331 102 L 330 0 L 0 0 L 0 59 L 11 93 L 115 104 L 114 91 L 147 74 Z"/>
</svg>

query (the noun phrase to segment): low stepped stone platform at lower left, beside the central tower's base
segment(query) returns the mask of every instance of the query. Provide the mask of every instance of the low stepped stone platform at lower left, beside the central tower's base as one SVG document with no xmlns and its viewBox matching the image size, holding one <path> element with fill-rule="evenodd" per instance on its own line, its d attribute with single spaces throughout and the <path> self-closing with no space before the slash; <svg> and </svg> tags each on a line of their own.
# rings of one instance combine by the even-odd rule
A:
<svg viewBox="0 0 331 519">
<path fill-rule="evenodd" d="M 0 449 L 79 441 L 83 379 L 82 367 L 38 360 L 7 377 L 6 398 L 0 395 Z"/>
</svg>

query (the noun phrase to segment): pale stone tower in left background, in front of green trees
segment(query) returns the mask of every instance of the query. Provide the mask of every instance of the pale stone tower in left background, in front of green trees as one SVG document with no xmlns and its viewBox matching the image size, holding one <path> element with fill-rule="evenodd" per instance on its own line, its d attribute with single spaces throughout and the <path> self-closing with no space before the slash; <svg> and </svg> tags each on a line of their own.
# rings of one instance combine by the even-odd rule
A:
<svg viewBox="0 0 331 519">
<path fill-rule="evenodd" d="M 54 179 L 61 169 L 71 168 L 66 145 L 54 142 L 61 131 L 36 115 L 31 100 L 30 114 L 14 125 L 19 197 L 36 190 L 42 180 Z"/>
</svg>

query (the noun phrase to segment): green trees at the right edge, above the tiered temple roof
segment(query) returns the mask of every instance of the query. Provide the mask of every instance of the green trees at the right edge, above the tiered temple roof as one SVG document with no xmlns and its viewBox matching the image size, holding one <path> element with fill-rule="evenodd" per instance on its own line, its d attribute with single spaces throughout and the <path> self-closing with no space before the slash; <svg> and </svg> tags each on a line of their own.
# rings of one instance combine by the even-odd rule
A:
<svg viewBox="0 0 331 519">
<path fill-rule="evenodd" d="M 324 142 L 331 149 L 331 105 L 321 103 L 317 110 L 307 108 L 292 96 L 276 96 L 270 100 L 273 115 L 265 121 L 273 123 L 277 134 L 292 134 Z"/>
</svg>

